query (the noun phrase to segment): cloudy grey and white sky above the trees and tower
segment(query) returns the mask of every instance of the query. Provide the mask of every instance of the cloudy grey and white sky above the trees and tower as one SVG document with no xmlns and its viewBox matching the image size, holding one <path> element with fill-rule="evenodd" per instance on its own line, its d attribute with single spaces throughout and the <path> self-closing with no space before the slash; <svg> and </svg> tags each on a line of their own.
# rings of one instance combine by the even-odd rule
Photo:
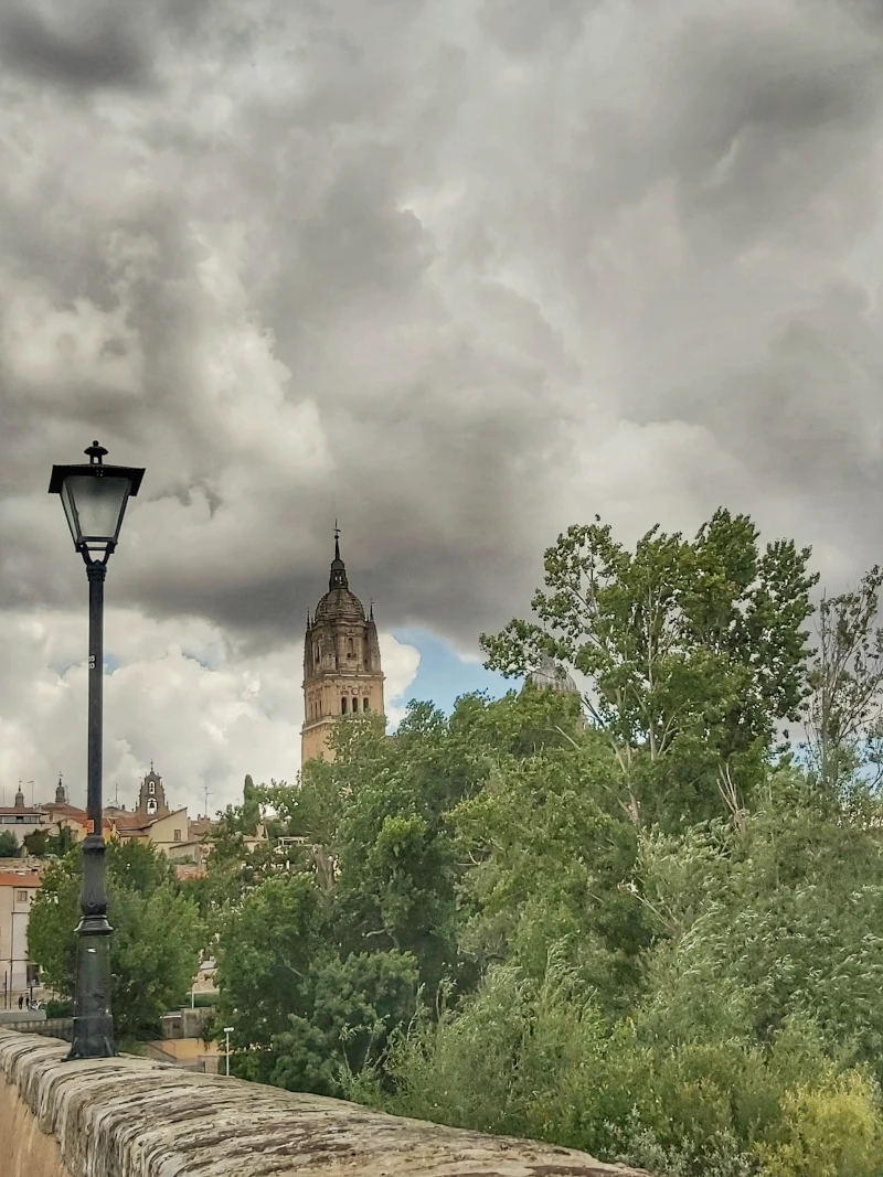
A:
<svg viewBox="0 0 883 1177">
<path fill-rule="evenodd" d="M 84 796 L 93 438 L 121 800 L 294 778 L 334 517 L 393 717 L 596 512 L 879 559 L 876 0 L 4 0 L 0 112 L 7 804 Z"/>
</svg>

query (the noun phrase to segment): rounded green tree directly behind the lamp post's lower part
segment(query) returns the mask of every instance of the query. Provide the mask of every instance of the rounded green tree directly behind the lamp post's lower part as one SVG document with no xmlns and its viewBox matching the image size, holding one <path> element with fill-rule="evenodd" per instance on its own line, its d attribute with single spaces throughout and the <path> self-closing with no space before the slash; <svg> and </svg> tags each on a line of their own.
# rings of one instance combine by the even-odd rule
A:
<svg viewBox="0 0 883 1177">
<path fill-rule="evenodd" d="M 28 922 L 31 959 L 44 984 L 73 998 L 80 893 L 80 850 L 52 863 Z M 174 867 L 137 842 L 107 846 L 111 1006 L 120 1039 L 159 1037 L 159 1019 L 180 1008 L 199 964 L 205 929 L 181 893 Z"/>
</svg>

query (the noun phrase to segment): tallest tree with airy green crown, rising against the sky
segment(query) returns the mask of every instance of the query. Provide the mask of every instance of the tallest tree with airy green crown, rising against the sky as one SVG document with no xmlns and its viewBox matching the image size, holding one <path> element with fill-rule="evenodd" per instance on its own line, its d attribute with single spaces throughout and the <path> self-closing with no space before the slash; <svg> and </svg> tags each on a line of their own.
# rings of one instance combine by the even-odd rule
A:
<svg viewBox="0 0 883 1177">
<path fill-rule="evenodd" d="M 591 683 L 586 705 L 639 825 L 737 814 L 777 722 L 805 693 L 809 548 L 761 552 L 746 516 L 719 510 L 692 541 L 653 527 L 633 553 L 599 521 L 545 554 L 538 624 L 482 636 L 487 665 L 523 674 L 544 653 Z"/>
</svg>

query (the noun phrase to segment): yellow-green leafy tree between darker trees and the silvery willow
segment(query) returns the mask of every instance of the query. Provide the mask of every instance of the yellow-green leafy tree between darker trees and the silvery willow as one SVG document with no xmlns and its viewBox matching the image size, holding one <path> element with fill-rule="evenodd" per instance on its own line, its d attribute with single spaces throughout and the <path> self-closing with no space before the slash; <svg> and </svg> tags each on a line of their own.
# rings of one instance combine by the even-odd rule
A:
<svg viewBox="0 0 883 1177">
<path fill-rule="evenodd" d="M 536 977 L 552 945 L 565 945 L 599 1000 L 622 1009 L 639 983 L 650 933 L 626 885 L 638 837 L 611 804 L 615 771 L 609 747 L 590 733 L 572 746 L 500 763 L 450 822 L 460 857 L 471 863 L 458 889 L 469 917 L 463 950 L 483 967 L 510 960 Z"/>
</svg>

